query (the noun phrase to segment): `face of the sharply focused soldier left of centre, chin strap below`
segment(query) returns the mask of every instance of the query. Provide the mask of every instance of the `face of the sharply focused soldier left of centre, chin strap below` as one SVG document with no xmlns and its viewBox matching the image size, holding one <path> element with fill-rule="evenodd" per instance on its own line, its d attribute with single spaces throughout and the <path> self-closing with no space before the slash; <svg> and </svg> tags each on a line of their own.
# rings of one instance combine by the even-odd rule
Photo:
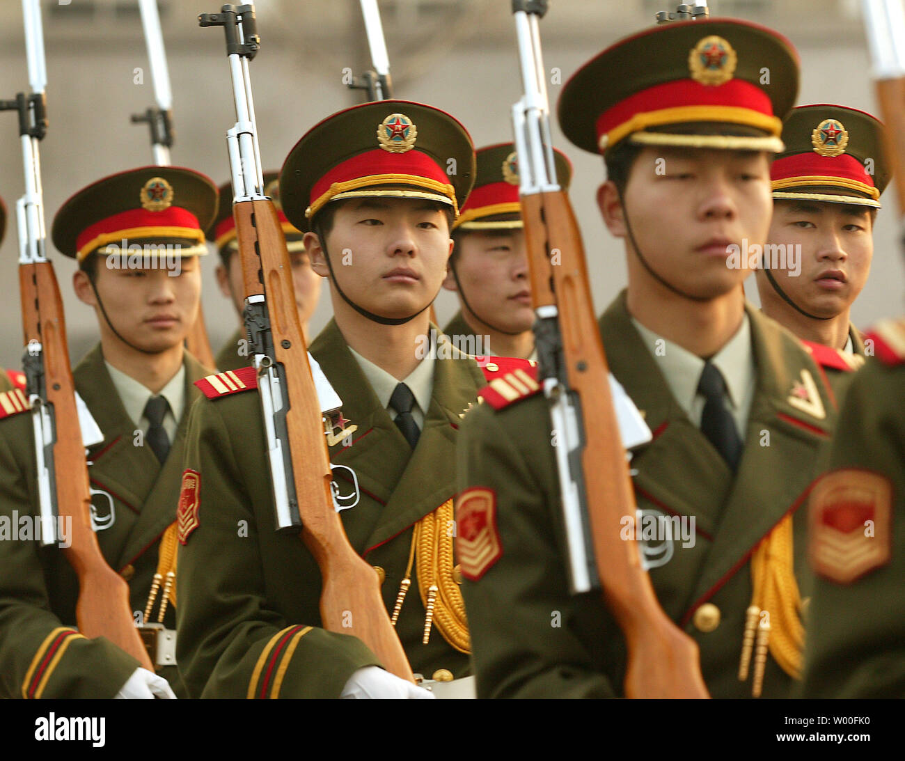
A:
<svg viewBox="0 0 905 761">
<path fill-rule="evenodd" d="M 318 237 L 309 233 L 305 243 L 315 271 L 328 277 Z M 414 198 L 356 198 L 337 209 L 327 251 L 334 277 L 350 300 L 397 319 L 424 309 L 436 296 L 452 241 L 446 215 L 436 204 Z M 334 309 L 346 308 L 336 294 L 333 303 Z"/>
</svg>

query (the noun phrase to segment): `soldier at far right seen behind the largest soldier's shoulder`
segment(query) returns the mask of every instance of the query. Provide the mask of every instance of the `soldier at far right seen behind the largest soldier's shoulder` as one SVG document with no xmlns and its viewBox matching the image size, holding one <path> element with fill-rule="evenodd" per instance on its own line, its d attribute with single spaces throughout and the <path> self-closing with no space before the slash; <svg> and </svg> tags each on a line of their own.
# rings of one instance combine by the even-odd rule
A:
<svg viewBox="0 0 905 761">
<path fill-rule="evenodd" d="M 770 245 L 757 269 L 761 307 L 801 338 L 837 397 L 864 361 L 850 311 L 871 271 L 873 223 L 890 181 L 882 128 L 858 109 L 798 106 L 770 171 Z"/>
</svg>

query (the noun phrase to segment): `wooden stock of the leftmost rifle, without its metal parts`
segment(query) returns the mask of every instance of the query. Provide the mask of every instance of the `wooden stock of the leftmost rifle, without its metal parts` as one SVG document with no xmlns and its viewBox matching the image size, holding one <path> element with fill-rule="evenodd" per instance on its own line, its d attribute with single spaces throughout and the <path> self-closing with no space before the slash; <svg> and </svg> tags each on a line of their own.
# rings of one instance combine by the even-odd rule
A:
<svg viewBox="0 0 905 761">
<path fill-rule="evenodd" d="M 132 620 L 129 585 L 107 564 L 91 528 L 88 466 L 75 404 L 62 299 L 51 262 L 20 265 L 19 287 L 25 343 L 36 339 L 43 347 L 46 401 L 53 410 L 56 429 L 53 461 L 57 508 L 64 525 L 71 526 L 71 545 L 62 548 L 62 552 L 79 577 L 75 609 L 79 631 L 89 638 L 106 637 L 153 672 L 148 651 Z"/>
</svg>

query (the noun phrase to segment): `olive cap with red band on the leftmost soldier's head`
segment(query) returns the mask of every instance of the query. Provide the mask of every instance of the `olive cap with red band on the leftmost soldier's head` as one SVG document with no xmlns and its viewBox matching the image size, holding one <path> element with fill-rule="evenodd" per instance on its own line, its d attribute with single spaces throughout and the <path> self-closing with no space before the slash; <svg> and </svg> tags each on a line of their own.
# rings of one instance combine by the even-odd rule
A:
<svg viewBox="0 0 905 761">
<path fill-rule="evenodd" d="M 217 213 L 217 188 L 180 166 L 142 166 L 98 180 L 53 217 L 53 244 L 81 262 L 122 241 L 174 243 L 181 256 L 207 252 L 205 229 Z"/>
</svg>

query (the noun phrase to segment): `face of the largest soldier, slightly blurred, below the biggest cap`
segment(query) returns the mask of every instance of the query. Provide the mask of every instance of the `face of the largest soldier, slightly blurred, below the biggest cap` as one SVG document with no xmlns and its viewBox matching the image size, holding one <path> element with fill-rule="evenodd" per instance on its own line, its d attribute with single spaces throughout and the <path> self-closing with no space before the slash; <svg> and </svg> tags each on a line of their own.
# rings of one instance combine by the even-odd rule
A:
<svg viewBox="0 0 905 761">
<path fill-rule="evenodd" d="M 645 147 L 624 191 L 601 186 L 598 204 L 610 232 L 625 239 L 630 281 L 662 288 L 633 255 L 674 288 L 699 299 L 738 289 L 748 276 L 746 252 L 763 245 L 772 210 L 767 154 L 754 151 Z M 733 254 L 736 255 L 733 255 Z"/>
</svg>

